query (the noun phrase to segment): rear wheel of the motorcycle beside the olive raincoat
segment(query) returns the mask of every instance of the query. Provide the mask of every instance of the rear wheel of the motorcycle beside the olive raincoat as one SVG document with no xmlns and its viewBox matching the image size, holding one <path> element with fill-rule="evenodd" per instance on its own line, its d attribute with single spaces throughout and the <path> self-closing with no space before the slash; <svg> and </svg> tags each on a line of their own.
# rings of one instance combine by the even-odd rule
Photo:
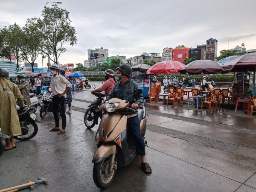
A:
<svg viewBox="0 0 256 192">
<path fill-rule="evenodd" d="M 19 136 L 15 136 L 15 140 L 19 140 L 19 141 L 26 141 L 26 140 L 30 140 L 33 137 L 35 137 L 35 135 L 38 132 L 38 126 L 36 125 L 36 123 L 32 120 L 26 120 L 26 121 L 20 121 L 20 126 L 26 126 L 26 128 L 29 130 L 28 133 L 26 135 L 19 135 Z"/>
</svg>

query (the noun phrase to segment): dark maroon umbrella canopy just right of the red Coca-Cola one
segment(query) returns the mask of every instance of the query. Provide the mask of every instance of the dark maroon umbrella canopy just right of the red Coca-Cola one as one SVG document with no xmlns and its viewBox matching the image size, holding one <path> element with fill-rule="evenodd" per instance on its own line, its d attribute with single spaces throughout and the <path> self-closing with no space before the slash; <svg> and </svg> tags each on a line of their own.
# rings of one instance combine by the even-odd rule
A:
<svg viewBox="0 0 256 192">
<path fill-rule="evenodd" d="M 213 74 L 220 73 L 221 65 L 211 60 L 196 60 L 187 64 L 186 67 L 180 69 L 181 74 Z"/>
</svg>

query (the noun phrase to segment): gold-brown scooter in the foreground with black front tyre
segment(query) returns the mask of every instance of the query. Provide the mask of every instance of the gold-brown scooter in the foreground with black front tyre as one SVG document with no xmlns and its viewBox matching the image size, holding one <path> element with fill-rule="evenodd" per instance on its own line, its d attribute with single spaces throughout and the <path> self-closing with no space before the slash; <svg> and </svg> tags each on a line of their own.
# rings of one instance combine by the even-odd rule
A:
<svg viewBox="0 0 256 192">
<path fill-rule="evenodd" d="M 129 97 L 136 98 L 142 93 L 141 89 L 134 90 Z M 105 189 L 111 185 L 118 166 L 127 166 L 137 154 L 133 135 L 127 130 L 127 116 L 121 113 L 129 108 L 125 100 L 112 98 L 102 108 L 105 112 L 96 132 L 95 142 L 98 150 L 93 156 L 93 180 L 96 186 Z M 146 137 L 146 113 L 144 105 L 139 107 L 140 133 L 144 144 Z"/>
</svg>

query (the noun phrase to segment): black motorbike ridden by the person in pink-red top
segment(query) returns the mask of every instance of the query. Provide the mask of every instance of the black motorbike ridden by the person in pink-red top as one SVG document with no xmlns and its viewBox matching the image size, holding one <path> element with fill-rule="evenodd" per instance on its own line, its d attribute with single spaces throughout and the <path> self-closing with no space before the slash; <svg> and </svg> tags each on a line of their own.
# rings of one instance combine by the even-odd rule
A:
<svg viewBox="0 0 256 192">
<path fill-rule="evenodd" d="M 95 85 L 92 85 L 95 89 Z M 88 106 L 89 108 L 86 110 L 84 114 L 84 125 L 91 129 L 94 125 L 98 125 L 99 118 L 102 118 L 102 111 L 99 111 L 99 105 L 104 102 L 105 94 L 103 93 L 95 93 L 94 94 L 97 98 Z"/>
</svg>

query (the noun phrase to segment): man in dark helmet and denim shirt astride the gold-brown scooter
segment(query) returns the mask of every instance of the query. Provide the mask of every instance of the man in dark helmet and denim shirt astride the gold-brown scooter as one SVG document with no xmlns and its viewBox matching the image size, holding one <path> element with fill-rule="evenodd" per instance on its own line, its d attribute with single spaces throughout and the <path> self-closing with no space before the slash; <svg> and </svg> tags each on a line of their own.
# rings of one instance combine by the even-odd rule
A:
<svg viewBox="0 0 256 192">
<path fill-rule="evenodd" d="M 134 135 L 134 140 L 136 143 L 137 154 L 141 156 L 141 165 L 145 173 L 151 172 L 151 167 L 146 163 L 145 158 L 145 145 L 143 137 L 140 134 L 140 120 L 138 117 L 138 108 L 144 102 L 143 95 L 140 94 L 137 98 L 131 96 L 135 89 L 140 89 L 136 81 L 131 79 L 131 66 L 128 64 L 121 64 L 118 67 L 118 76 L 120 77 L 119 81 L 115 84 L 111 92 L 109 93 L 106 101 L 112 98 L 119 98 L 122 100 L 128 100 L 131 104 L 131 108 L 136 110 L 135 112 L 127 111 L 123 114 L 127 116 L 127 125 L 129 130 Z M 99 110 L 102 109 L 100 105 Z"/>
</svg>

